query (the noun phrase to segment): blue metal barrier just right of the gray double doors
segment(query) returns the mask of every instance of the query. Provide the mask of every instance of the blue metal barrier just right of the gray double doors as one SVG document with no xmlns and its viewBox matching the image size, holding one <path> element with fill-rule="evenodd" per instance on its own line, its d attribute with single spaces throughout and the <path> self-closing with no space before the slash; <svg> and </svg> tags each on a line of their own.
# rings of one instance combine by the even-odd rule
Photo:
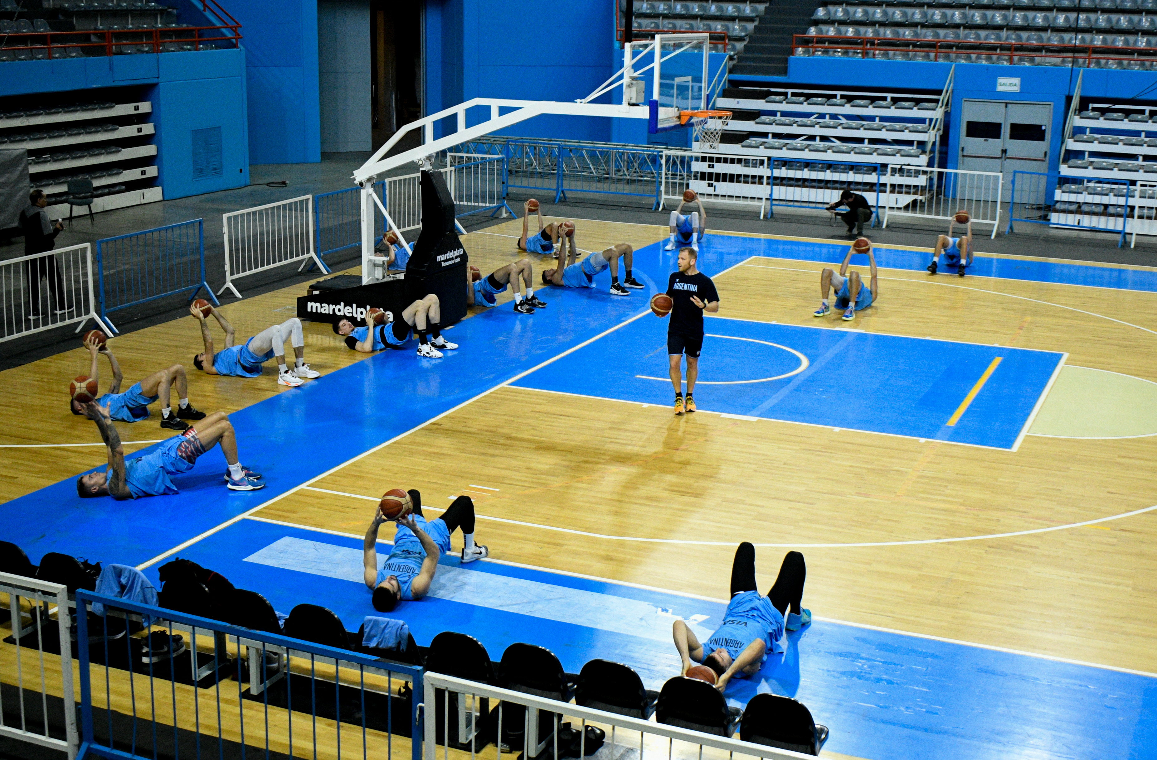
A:
<svg viewBox="0 0 1157 760">
<path fill-rule="evenodd" d="M 1004 233 L 1014 231 L 1014 222 L 1118 233 L 1120 248 L 1129 221 L 1127 209 L 1135 200 L 1128 179 L 1014 171 Z"/>
</svg>

